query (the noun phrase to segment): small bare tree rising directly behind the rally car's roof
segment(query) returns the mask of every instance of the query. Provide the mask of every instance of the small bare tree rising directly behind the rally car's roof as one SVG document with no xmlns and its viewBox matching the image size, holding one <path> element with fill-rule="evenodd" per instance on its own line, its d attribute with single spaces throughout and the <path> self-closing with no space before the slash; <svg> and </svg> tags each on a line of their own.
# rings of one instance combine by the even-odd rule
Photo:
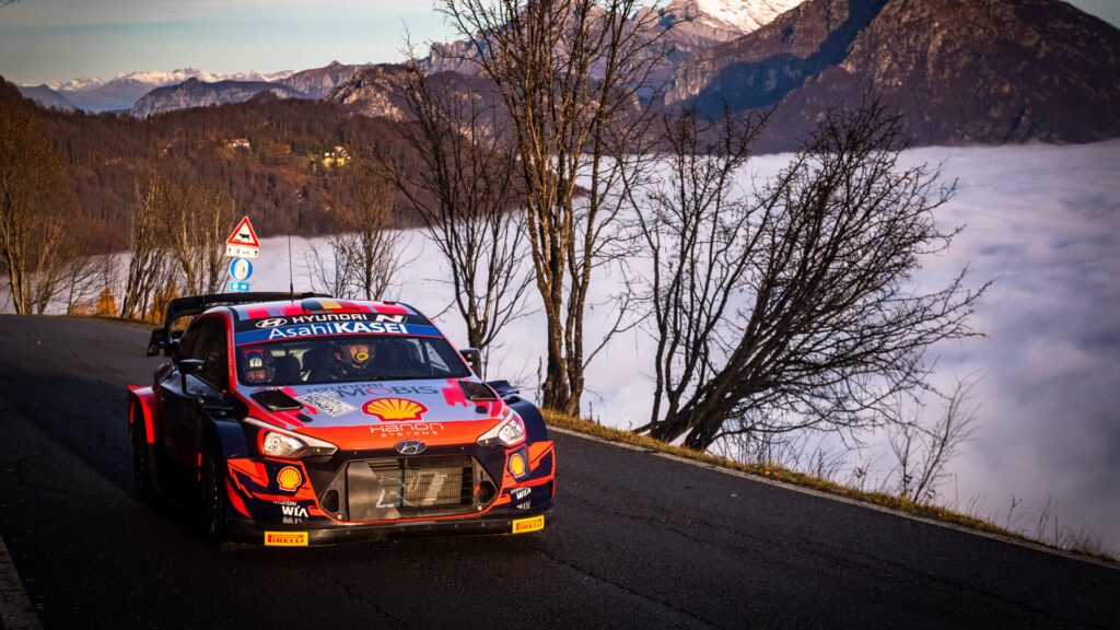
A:
<svg viewBox="0 0 1120 630">
<path fill-rule="evenodd" d="M 404 267 L 403 233 L 394 229 L 394 186 L 358 167 L 355 195 L 336 198 L 330 207 L 332 234 L 327 252 L 312 247 L 308 254 L 311 282 L 335 297 L 377 299 Z"/>
</svg>

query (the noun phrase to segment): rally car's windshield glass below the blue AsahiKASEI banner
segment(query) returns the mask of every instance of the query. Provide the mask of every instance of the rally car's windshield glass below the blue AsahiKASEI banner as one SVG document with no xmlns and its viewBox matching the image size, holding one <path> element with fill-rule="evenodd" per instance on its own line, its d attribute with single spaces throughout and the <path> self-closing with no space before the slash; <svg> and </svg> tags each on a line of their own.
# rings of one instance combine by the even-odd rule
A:
<svg viewBox="0 0 1120 630">
<path fill-rule="evenodd" d="M 447 340 L 405 335 L 299 337 L 237 346 L 242 385 L 463 378 L 469 370 Z"/>
</svg>

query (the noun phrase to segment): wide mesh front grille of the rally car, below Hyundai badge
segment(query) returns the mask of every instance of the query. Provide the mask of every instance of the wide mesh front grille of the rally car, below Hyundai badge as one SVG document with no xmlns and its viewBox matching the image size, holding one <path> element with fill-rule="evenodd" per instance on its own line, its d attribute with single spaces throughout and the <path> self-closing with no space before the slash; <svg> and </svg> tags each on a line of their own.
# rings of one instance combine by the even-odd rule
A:
<svg viewBox="0 0 1120 630">
<path fill-rule="evenodd" d="M 320 493 L 339 520 L 395 520 L 479 511 L 489 475 L 470 456 L 398 457 L 346 463 Z"/>
</svg>

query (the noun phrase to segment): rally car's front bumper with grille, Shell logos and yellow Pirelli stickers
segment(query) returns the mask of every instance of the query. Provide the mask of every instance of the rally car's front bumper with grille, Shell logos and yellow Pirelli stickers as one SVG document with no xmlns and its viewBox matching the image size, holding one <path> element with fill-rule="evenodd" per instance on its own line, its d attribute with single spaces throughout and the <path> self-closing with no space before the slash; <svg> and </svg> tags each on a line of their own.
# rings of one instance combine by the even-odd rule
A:
<svg viewBox="0 0 1120 630">
<path fill-rule="evenodd" d="M 225 537 L 306 546 L 412 534 L 519 534 L 552 524 L 551 442 L 432 451 L 231 460 Z"/>
</svg>

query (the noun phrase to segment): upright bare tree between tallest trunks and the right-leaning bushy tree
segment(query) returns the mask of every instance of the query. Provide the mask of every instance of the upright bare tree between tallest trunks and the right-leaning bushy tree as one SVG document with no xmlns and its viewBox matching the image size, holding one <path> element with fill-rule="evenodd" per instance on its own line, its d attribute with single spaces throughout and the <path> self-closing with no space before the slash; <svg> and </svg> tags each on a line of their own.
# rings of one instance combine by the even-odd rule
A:
<svg viewBox="0 0 1120 630">
<path fill-rule="evenodd" d="M 696 110 L 661 117 L 669 173 L 634 213 L 640 249 L 652 267 L 633 284 L 646 287 L 640 299 L 656 343 L 651 423 L 663 404 L 669 416 L 678 414 L 694 383 L 711 376 L 716 333 L 749 271 L 756 228 L 768 220 L 766 209 L 749 206 L 735 188 L 760 129 L 759 120 L 725 114 L 717 131 Z"/>
</svg>

